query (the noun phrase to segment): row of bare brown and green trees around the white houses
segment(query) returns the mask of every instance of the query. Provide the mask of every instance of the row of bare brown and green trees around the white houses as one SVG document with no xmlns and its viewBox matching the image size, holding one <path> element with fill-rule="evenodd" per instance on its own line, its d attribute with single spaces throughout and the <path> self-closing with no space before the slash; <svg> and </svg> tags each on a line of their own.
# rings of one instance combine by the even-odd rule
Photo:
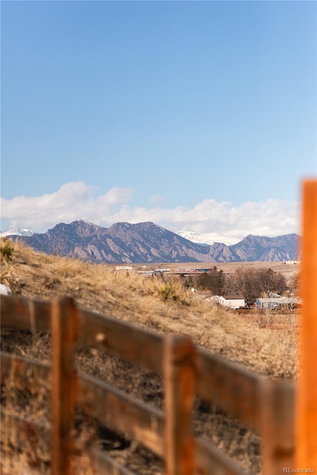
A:
<svg viewBox="0 0 317 475">
<path fill-rule="evenodd" d="M 283 295 L 287 290 L 298 293 L 299 274 L 289 282 L 280 272 L 272 269 L 250 269 L 239 267 L 234 273 L 224 274 L 214 266 L 198 277 L 184 279 L 186 287 L 208 290 L 212 295 L 241 295 L 247 303 L 255 303 L 259 297 L 268 297 L 272 293 Z"/>
</svg>

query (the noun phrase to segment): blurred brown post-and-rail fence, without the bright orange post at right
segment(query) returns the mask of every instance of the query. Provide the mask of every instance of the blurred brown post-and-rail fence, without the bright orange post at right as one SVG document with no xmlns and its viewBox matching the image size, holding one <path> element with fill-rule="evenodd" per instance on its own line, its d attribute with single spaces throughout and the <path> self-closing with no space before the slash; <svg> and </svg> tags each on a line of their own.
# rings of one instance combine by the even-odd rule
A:
<svg viewBox="0 0 317 475">
<path fill-rule="evenodd" d="M 195 348 L 189 337 L 162 336 L 78 308 L 67 298 L 51 304 L 3 296 L 1 325 L 52 331 L 53 475 L 71 473 L 75 404 L 164 457 L 166 474 L 242 474 L 204 439 L 194 439 L 191 416 L 195 393 L 262 433 L 267 474 L 282 473 L 284 466 L 293 464 L 293 383 L 277 383 L 212 356 Z M 76 374 L 76 334 L 82 342 L 162 375 L 165 414 L 106 383 Z M 32 371 L 47 379 L 51 368 L 1 353 L 2 381 L 14 373 L 14 379 L 26 386 Z"/>
</svg>

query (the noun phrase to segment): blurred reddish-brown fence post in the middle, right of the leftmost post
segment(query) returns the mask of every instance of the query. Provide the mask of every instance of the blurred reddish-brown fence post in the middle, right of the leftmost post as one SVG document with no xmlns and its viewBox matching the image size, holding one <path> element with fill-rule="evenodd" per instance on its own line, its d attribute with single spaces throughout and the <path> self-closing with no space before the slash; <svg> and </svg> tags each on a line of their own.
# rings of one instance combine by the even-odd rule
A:
<svg viewBox="0 0 317 475">
<path fill-rule="evenodd" d="M 195 350 L 186 336 L 164 340 L 165 473 L 193 475 L 195 441 L 192 410 L 195 393 Z"/>
</svg>

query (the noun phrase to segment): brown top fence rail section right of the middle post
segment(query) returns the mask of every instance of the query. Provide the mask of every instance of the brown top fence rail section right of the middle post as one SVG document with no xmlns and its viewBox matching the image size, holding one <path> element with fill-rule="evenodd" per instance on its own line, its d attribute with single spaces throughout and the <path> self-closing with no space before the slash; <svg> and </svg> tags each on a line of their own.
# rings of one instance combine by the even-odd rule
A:
<svg viewBox="0 0 317 475">
<path fill-rule="evenodd" d="M 259 430 L 260 388 L 265 378 L 200 348 L 196 351 L 197 393 Z"/>
</svg>

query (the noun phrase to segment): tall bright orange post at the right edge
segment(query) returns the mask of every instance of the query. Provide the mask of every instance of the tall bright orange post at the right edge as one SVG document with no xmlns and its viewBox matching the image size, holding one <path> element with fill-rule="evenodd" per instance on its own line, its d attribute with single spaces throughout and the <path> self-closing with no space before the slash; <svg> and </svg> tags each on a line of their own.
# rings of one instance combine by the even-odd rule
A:
<svg viewBox="0 0 317 475">
<path fill-rule="evenodd" d="M 317 180 L 303 184 L 301 376 L 296 398 L 296 468 L 317 472 Z"/>
</svg>

